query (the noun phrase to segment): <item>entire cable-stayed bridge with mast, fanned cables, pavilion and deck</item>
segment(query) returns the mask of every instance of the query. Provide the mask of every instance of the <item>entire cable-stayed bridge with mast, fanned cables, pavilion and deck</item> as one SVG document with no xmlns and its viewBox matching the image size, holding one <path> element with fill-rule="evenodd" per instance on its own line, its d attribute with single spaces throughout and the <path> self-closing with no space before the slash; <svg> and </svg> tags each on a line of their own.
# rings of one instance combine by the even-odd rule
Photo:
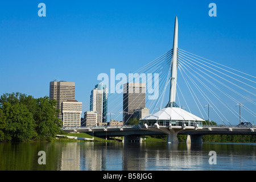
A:
<svg viewBox="0 0 256 182">
<path fill-rule="evenodd" d="M 141 118 L 139 125 L 129 126 L 124 123 L 116 127 L 81 126 L 65 127 L 63 130 L 93 132 L 96 136 L 125 136 L 126 139 L 166 134 L 167 143 L 178 142 L 177 134 L 187 134 L 188 142 L 190 140 L 192 143 L 201 143 L 201 136 L 208 134 L 256 134 L 255 126 L 252 125 L 256 116 L 256 77 L 178 48 L 177 17 L 173 48 L 135 73 L 137 76 L 134 80 L 137 81 L 143 80 L 142 75 L 145 73 L 151 76 L 158 73 L 159 78 L 151 84 L 146 80 L 147 90 L 157 90 L 158 94 L 155 99 L 151 97 L 151 100 L 147 100 L 151 114 Z M 152 93 L 155 94 L 147 92 L 146 97 L 152 96 Z M 123 102 L 118 101 L 118 97 L 112 93 L 108 96 L 109 100 L 111 95 L 114 95 L 114 104 L 110 113 L 117 113 L 115 109 L 122 108 Z M 122 108 L 119 114 L 125 115 L 124 110 Z M 245 112 L 246 116 L 242 114 Z M 212 120 L 221 125 L 216 125 Z"/>
</svg>

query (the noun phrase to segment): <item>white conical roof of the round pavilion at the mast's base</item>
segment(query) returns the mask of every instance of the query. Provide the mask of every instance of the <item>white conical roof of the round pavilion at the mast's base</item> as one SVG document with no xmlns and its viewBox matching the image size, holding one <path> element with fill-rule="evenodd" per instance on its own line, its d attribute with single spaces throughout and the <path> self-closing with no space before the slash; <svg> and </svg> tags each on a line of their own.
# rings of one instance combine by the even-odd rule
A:
<svg viewBox="0 0 256 182">
<path fill-rule="evenodd" d="M 154 114 L 148 115 L 141 120 L 182 120 L 182 121 L 204 121 L 179 107 L 165 107 Z"/>
</svg>

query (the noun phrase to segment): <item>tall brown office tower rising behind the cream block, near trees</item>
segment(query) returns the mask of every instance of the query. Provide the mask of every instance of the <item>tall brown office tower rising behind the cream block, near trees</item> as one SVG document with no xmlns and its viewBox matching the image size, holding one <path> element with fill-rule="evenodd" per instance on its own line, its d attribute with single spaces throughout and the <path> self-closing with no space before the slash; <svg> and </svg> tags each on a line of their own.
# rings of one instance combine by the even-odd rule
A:
<svg viewBox="0 0 256 182">
<path fill-rule="evenodd" d="M 49 97 L 51 100 L 56 100 L 56 109 L 60 110 L 58 118 L 63 120 L 61 114 L 61 104 L 67 100 L 75 100 L 75 82 L 67 81 L 51 81 L 49 89 Z"/>
</svg>

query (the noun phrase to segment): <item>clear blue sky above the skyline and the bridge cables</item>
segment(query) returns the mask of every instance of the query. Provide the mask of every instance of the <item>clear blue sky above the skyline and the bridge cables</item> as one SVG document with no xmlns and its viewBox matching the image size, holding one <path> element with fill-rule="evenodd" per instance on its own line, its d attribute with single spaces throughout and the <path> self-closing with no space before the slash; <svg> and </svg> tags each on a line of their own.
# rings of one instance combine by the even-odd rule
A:
<svg viewBox="0 0 256 182">
<path fill-rule="evenodd" d="M 46 4 L 46 17 L 38 4 Z M 210 17 L 209 3 L 217 5 Z M 76 82 L 88 104 L 100 73 L 134 72 L 179 48 L 255 75 L 256 1 L 3 1 L 0 95 L 49 95 L 53 79 Z M 121 101 L 122 102 L 122 101 Z M 253 118 L 254 119 L 254 118 Z"/>
</svg>

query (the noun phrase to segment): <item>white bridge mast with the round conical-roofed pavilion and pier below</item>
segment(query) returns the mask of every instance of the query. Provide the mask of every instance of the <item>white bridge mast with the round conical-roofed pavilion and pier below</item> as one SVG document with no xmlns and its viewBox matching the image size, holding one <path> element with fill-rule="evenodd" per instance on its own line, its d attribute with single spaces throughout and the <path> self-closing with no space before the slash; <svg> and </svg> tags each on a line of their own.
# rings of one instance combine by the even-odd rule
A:
<svg viewBox="0 0 256 182">
<path fill-rule="evenodd" d="M 200 130 L 204 119 L 197 117 L 181 109 L 175 102 L 177 84 L 177 43 L 178 43 L 178 23 L 175 17 L 174 44 L 171 61 L 171 84 L 170 99 L 166 107 L 160 109 L 145 118 L 141 119 L 143 129 L 150 131 L 160 131 L 167 134 L 167 143 L 177 143 L 177 134 L 180 131 Z"/>
</svg>

